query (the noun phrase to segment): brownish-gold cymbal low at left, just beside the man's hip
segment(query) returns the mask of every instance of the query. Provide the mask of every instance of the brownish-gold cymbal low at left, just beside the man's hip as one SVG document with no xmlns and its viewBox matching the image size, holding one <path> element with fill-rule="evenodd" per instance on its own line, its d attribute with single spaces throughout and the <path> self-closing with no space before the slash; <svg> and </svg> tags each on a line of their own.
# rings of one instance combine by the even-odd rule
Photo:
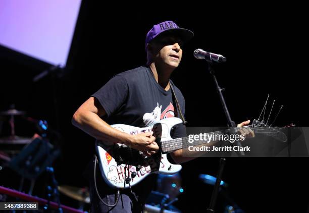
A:
<svg viewBox="0 0 309 213">
<path fill-rule="evenodd" d="M 58 186 L 58 190 L 73 199 L 85 203 L 90 203 L 89 191 L 86 188 L 78 188 L 75 186 L 62 185 Z"/>
</svg>

